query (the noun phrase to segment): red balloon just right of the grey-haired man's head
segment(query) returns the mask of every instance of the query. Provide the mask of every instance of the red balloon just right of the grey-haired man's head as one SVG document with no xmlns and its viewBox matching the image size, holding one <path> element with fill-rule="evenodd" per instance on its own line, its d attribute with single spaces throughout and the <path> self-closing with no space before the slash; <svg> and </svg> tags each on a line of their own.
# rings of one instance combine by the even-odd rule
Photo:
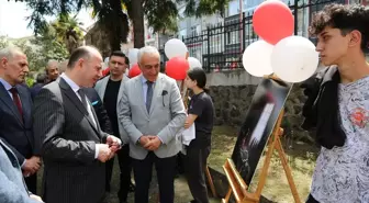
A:
<svg viewBox="0 0 369 203">
<path fill-rule="evenodd" d="M 190 64 L 186 60 L 186 58 L 174 57 L 167 61 L 166 74 L 176 80 L 185 80 L 189 68 Z"/>
</svg>

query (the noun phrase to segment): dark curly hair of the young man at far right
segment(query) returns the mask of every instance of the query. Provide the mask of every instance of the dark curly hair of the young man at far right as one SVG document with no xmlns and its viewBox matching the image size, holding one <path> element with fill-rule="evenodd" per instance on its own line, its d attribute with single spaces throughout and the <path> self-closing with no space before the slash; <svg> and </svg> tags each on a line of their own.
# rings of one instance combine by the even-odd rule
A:
<svg viewBox="0 0 369 203">
<path fill-rule="evenodd" d="M 369 8 L 359 4 L 328 4 L 317 12 L 311 22 L 309 32 L 317 35 L 327 26 L 339 29 L 345 36 L 351 31 L 361 33 L 361 49 L 369 46 Z"/>
</svg>

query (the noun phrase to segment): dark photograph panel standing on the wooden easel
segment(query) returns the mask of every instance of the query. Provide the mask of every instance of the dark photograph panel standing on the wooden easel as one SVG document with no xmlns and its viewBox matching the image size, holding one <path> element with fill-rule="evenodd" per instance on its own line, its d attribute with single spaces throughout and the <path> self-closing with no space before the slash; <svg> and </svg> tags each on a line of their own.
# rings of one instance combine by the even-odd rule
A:
<svg viewBox="0 0 369 203">
<path fill-rule="evenodd" d="M 283 81 L 262 79 L 256 89 L 232 154 L 232 160 L 247 185 L 251 182 L 291 88 Z"/>
</svg>

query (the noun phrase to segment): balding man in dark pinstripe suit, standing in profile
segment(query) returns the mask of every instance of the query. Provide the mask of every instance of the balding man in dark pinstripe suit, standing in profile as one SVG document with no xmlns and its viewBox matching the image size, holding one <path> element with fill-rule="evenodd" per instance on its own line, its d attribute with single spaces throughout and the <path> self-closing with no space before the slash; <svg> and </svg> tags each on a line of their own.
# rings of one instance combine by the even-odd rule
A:
<svg viewBox="0 0 369 203">
<path fill-rule="evenodd" d="M 47 203 L 100 203 L 104 195 L 104 162 L 121 140 L 103 133 L 83 88 L 101 77 L 102 57 L 82 46 L 70 55 L 66 71 L 34 100 L 34 133 L 42 138 Z"/>
</svg>

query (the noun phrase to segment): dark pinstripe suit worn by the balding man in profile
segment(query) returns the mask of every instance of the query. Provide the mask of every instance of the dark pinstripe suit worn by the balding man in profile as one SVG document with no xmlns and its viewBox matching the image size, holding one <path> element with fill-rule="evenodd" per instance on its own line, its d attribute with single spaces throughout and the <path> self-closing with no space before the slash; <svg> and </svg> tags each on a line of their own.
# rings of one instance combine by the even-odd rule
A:
<svg viewBox="0 0 369 203">
<path fill-rule="evenodd" d="M 42 137 L 43 198 L 47 203 L 97 203 L 104 194 L 105 167 L 94 159 L 96 144 L 104 143 L 98 119 L 60 77 L 34 100 L 34 132 Z"/>
</svg>

